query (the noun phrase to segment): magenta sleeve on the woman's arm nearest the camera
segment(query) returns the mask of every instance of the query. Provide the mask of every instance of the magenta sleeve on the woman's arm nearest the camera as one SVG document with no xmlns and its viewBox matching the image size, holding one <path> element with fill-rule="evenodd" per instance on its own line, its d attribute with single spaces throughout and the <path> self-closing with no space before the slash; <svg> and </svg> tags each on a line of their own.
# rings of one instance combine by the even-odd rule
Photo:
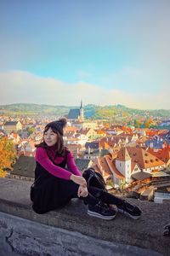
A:
<svg viewBox="0 0 170 256">
<path fill-rule="evenodd" d="M 66 180 L 71 179 L 71 172 L 66 171 L 64 168 L 55 166 L 51 160 L 48 158 L 48 154 L 45 148 L 37 148 L 36 156 L 37 162 L 46 169 L 49 173 L 55 177 L 60 177 Z"/>
</svg>

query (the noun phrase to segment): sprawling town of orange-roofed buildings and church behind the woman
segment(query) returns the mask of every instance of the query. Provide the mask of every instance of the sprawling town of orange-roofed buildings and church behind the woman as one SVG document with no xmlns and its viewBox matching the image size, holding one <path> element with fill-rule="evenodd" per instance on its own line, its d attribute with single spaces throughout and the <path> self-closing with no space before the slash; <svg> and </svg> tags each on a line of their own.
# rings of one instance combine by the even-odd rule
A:
<svg viewBox="0 0 170 256">
<path fill-rule="evenodd" d="M 15 152 L 10 156 L 13 161 L 7 160 L 8 166 L 2 161 L 1 176 L 33 181 L 34 172 L 24 172 L 23 162 L 27 165 L 29 160 L 24 158 L 34 158 L 35 145 L 42 141 L 44 126 L 61 116 L 42 113 L 41 117 L 36 117 L 34 113 L 29 117 L 18 113 L 17 118 L 15 112 L 12 118 L 4 114 L 4 107 L 1 109 L 0 143 L 2 141 L 4 147 L 3 141 L 8 140 L 14 144 L 13 154 Z M 81 101 L 79 108 L 65 109 L 63 115 L 68 120 L 65 146 L 71 150 L 81 172 L 94 167 L 104 177 L 107 189 L 116 195 L 160 202 L 169 199 L 170 119 L 150 117 L 147 112 L 145 116 L 127 114 L 125 119 L 122 111 L 115 113 L 114 123 L 114 116 L 111 119 L 108 110 L 102 109 L 100 116 L 97 111 L 99 117 L 94 119 L 94 116 L 85 117 L 86 113 L 89 115 L 89 106 L 87 112 L 84 109 Z M 5 154 L 5 148 L 2 150 Z"/>
</svg>

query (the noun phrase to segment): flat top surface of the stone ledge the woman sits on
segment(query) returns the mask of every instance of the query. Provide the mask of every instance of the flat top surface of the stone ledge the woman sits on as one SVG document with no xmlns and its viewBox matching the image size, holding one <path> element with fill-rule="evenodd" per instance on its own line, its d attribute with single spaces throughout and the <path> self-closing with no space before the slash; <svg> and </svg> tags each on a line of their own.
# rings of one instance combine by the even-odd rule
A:
<svg viewBox="0 0 170 256">
<path fill-rule="evenodd" d="M 143 210 L 138 220 L 117 214 L 111 221 L 89 217 L 82 201 L 72 200 L 67 207 L 39 215 L 32 211 L 29 200 L 31 183 L 0 178 L 0 211 L 53 227 L 78 231 L 105 241 L 148 248 L 170 255 L 170 238 L 162 236 L 162 228 L 170 220 L 170 204 L 155 204 L 128 199 Z"/>
</svg>

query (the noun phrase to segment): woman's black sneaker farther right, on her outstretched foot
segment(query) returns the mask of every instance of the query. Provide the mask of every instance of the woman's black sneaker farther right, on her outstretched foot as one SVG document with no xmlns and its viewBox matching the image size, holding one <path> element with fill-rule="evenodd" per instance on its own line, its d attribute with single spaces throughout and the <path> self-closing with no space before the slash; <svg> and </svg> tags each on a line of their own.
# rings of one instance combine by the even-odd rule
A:
<svg viewBox="0 0 170 256">
<path fill-rule="evenodd" d="M 133 206 L 131 204 L 129 204 L 127 201 L 123 200 L 122 204 L 117 206 L 118 208 L 118 212 L 122 212 L 124 214 L 126 214 L 127 216 L 131 217 L 131 218 L 140 218 L 142 211 L 140 210 L 139 207 L 137 206 Z"/>
</svg>

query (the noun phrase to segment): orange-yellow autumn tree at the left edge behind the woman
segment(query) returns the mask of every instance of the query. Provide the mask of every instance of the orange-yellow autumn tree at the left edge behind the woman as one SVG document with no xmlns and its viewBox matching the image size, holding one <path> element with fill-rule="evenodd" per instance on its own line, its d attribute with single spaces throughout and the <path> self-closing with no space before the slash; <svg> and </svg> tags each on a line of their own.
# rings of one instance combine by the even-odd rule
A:
<svg viewBox="0 0 170 256">
<path fill-rule="evenodd" d="M 8 137 L 0 137 L 0 177 L 5 177 L 5 168 L 11 169 L 16 158 L 14 143 Z"/>
</svg>

